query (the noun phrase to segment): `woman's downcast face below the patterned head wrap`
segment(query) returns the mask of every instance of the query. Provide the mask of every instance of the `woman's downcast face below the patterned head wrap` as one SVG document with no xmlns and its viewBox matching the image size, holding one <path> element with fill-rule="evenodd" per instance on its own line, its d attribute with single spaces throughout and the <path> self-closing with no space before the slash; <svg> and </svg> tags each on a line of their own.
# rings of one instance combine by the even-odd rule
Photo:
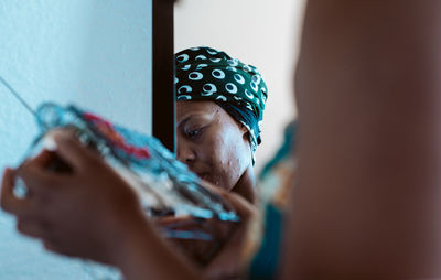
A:
<svg viewBox="0 0 441 280">
<path fill-rule="evenodd" d="M 178 159 L 232 190 L 251 162 L 247 129 L 213 101 L 178 101 Z"/>
</svg>

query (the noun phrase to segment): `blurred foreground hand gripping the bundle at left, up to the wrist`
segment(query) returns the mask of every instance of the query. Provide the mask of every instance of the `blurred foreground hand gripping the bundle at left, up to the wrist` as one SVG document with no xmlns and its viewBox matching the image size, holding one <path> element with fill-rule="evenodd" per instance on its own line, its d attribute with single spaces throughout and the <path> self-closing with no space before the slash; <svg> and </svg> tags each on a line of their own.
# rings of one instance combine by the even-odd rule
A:
<svg viewBox="0 0 441 280">
<path fill-rule="evenodd" d="M 6 170 L 1 207 L 17 216 L 20 233 L 42 239 L 46 249 L 114 263 L 127 230 L 146 224 L 138 198 L 98 154 L 73 136 L 60 131 L 54 139 L 56 153 L 44 151 L 18 170 Z M 72 171 L 49 171 L 55 157 Z M 23 198 L 13 193 L 17 179 L 29 189 Z"/>
</svg>

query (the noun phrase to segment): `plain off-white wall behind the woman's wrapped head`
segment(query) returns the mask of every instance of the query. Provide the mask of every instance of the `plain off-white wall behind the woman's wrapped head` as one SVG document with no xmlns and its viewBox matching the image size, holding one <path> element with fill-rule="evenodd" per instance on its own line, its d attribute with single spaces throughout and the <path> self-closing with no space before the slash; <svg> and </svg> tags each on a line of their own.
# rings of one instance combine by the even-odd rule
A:
<svg viewBox="0 0 441 280">
<path fill-rule="evenodd" d="M 257 169 L 295 116 L 292 69 L 304 0 L 181 0 L 175 6 L 175 51 L 208 45 L 257 66 L 269 88 Z"/>
</svg>

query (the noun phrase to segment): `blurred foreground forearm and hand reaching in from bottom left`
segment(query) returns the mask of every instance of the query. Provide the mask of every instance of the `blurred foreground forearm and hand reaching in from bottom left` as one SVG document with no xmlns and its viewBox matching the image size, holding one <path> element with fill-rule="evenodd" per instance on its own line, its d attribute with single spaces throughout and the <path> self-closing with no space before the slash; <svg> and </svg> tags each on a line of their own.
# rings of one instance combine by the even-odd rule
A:
<svg viewBox="0 0 441 280">
<path fill-rule="evenodd" d="M 55 142 L 72 173 L 47 171 L 50 152 L 4 172 L 1 207 L 19 231 L 54 252 L 117 266 L 128 280 L 202 278 L 147 220 L 126 181 L 74 137 L 57 133 Z M 13 194 L 18 176 L 29 187 L 24 198 Z"/>
</svg>

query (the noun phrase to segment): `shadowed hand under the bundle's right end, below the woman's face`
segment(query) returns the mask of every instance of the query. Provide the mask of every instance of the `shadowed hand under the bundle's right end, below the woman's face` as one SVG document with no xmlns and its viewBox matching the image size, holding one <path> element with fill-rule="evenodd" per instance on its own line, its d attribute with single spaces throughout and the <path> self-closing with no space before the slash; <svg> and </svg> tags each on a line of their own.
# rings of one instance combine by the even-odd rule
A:
<svg viewBox="0 0 441 280">
<path fill-rule="evenodd" d="M 223 222 L 216 218 L 196 219 L 193 217 L 162 217 L 154 220 L 154 225 L 164 230 L 197 231 L 212 237 L 204 239 L 171 239 L 172 244 L 190 258 L 211 278 L 232 277 L 243 272 L 244 246 L 248 234 L 248 226 L 257 219 L 256 207 L 240 195 L 211 186 L 204 186 L 220 195 L 237 214 L 240 222 Z"/>
</svg>

